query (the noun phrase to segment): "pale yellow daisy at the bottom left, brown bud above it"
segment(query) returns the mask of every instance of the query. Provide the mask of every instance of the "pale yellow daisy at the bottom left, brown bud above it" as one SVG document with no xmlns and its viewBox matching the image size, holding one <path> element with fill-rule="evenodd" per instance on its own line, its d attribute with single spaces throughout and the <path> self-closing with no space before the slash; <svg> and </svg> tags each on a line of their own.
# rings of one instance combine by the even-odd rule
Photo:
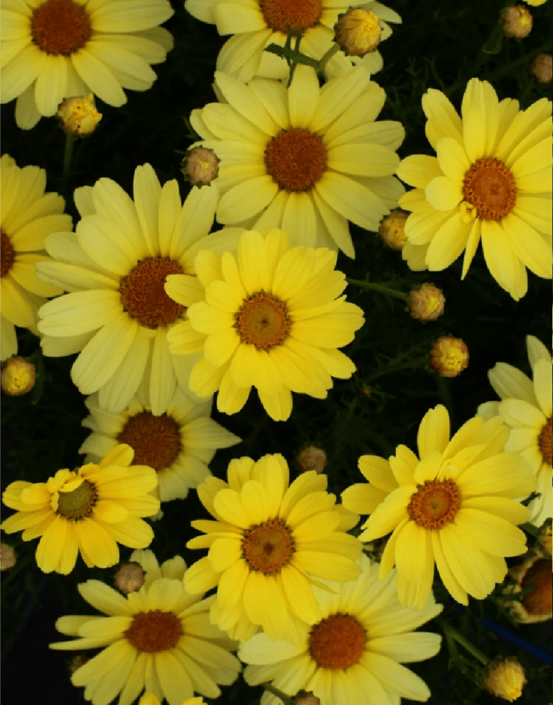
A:
<svg viewBox="0 0 553 705">
<path fill-rule="evenodd" d="M 194 691 L 219 697 L 217 684 L 233 683 L 241 663 L 229 653 L 238 644 L 209 622 L 214 596 L 204 600 L 186 591 L 181 556 L 161 567 L 152 551 L 134 551 L 130 560 L 146 571 L 138 591 L 123 596 L 99 580 L 78 585 L 83 599 L 107 617 L 56 621 L 59 632 L 80 638 L 50 644 L 50 649 L 107 647 L 75 670 L 71 682 L 85 687 L 85 700 L 92 705 L 107 705 L 118 694 L 118 705 L 130 705 L 144 688 L 169 705 L 183 705 L 183 700 L 184 705 L 200 705 Z"/>
</svg>

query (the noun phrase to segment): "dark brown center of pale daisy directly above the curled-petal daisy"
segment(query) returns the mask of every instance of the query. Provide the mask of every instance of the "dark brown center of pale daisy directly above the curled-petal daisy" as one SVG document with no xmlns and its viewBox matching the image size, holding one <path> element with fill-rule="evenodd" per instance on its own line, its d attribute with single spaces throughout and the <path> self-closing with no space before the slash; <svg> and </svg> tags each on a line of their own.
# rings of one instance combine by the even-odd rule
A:
<svg viewBox="0 0 553 705">
<path fill-rule="evenodd" d="M 150 411 L 141 411 L 131 416 L 121 433 L 118 443 L 128 443 L 135 451 L 131 465 L 150 465 L 156 472 L 171 467 L 180 455 L 181 427 L 175 419 L 154 416 Z"/>
</svg>

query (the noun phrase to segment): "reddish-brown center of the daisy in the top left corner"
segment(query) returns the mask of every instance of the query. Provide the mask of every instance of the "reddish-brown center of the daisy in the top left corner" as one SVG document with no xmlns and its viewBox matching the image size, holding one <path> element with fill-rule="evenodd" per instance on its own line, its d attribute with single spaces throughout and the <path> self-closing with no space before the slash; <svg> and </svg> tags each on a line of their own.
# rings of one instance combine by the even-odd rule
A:
<svg viewBox="0 0 553 705">
<path fill-rule="evenodd" d="M 47 54 L 70 56 L 92 35 L 87 13 L 73 0 L 46 0 L 32 13 L 32 41 Z"/>
</svg>

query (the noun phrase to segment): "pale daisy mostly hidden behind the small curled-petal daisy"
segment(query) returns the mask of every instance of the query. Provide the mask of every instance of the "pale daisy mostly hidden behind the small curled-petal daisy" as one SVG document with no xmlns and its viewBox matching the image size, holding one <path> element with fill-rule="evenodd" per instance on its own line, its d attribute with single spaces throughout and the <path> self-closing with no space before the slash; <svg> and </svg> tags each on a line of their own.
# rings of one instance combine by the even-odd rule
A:
<svg viewBox="0 0 553 705">
<path fill-rule="evenodd" d="M 177 388 L 161 416 L 154 416 L 141 394 L 130 400 L 119 414 L 110 414 L 98 405 L 98 395 L 85 400 L 90 416 L 83 426 L 92 429 L 79 453 L 87 461 L 127 443 L 135 452 L 133 465 L 150 465 L 157 472 L 158 485 L 152 491 L 162 502 L 184 499 L 211 474 L 207 463 L 217 448 L 228 448 L 241 439 L 209 417 L 212 399 L 195 403 Z"/>
</svg>

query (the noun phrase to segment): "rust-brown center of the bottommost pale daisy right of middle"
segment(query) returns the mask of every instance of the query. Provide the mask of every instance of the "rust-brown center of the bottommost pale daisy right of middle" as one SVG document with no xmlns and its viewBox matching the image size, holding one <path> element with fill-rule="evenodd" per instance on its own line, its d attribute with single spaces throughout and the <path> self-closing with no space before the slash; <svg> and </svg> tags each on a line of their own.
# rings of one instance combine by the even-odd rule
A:
<svg viewBox="0 0 553 705">
<path fill-rule="evenodd" d="M 348 614 L 335 614 L 312 627 L 309 653 L 322 668 L 349 668 L 365 651 L 367 632 Z"/>
</svg>

